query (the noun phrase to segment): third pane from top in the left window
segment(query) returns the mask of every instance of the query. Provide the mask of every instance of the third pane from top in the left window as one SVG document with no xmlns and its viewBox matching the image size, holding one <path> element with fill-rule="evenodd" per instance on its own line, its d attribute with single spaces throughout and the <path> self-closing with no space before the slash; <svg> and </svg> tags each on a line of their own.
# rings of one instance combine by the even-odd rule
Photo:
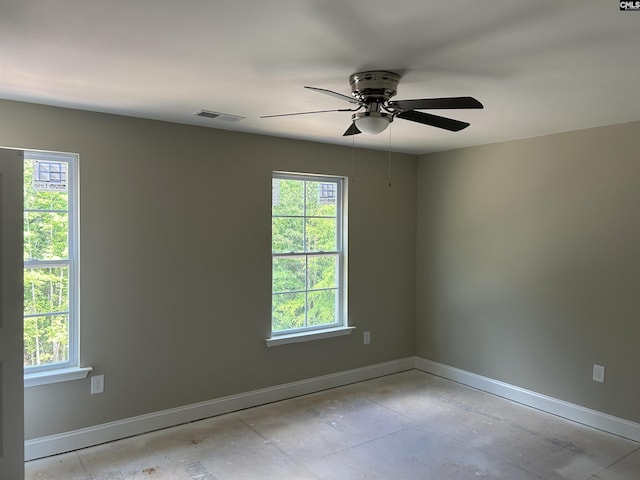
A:
<svg viewBox="0 0 640 480">
<path fill-rule="evenodd" d="M 69 269 L 67 267 L 25 268 L 25 315 L 68 310 Z"/>
</svg>

